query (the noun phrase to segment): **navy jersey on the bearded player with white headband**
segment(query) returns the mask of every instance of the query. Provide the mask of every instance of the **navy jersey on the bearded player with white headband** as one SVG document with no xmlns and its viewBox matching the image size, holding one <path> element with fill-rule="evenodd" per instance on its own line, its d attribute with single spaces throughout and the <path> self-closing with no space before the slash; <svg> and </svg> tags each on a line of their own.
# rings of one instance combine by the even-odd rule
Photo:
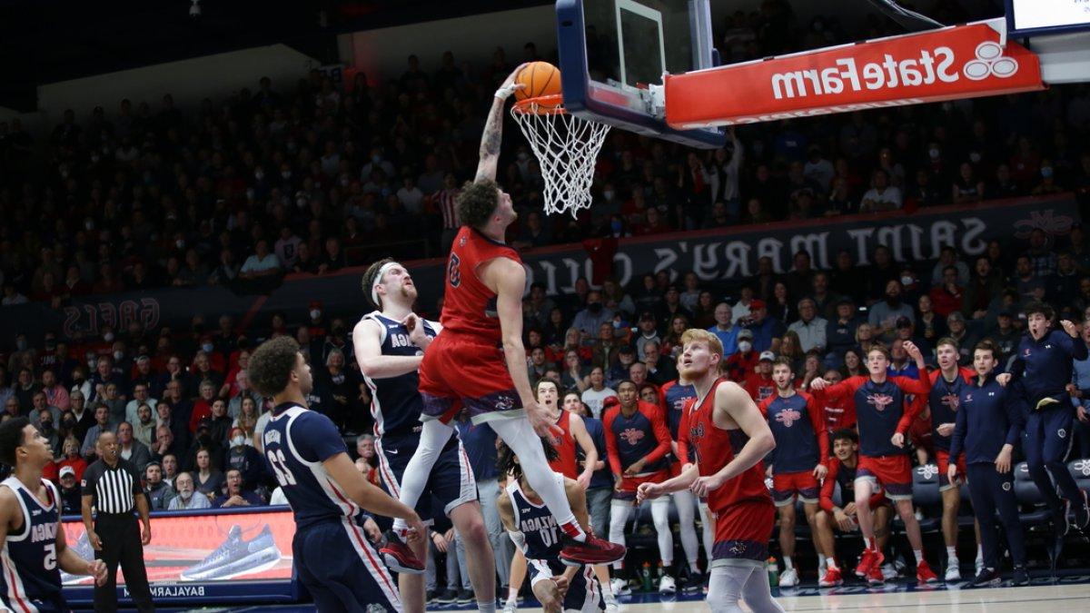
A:
<svg viewBox="0 0 1090 613">
<path fill-rule="evenodd" d="M 409 339 L 409 328 L 378 311 L 363 316 L 379 325 L 383 356 L 423 356 L 424 351 Z M 419 320 L 429 337 L 437 334 L 437 324 Z M 371 389 L 371 414 L 375 418 L 375 435 L 400 437 L 420 432 L 420 413 L 424 400 L 420 396 L 420 374 L 416 371 L 387 378 L 364 376 Z"/>
</svg>

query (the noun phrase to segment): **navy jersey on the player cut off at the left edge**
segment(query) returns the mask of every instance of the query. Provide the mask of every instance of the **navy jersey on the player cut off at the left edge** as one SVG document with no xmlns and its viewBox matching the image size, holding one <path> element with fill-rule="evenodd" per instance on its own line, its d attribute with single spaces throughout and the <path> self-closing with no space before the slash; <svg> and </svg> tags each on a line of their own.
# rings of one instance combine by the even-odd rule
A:
<svg viewBox="0 0 1090 613">
<path fill-rule="evenodd" d="M 38 496 L 23 483 L 9 477 L 0 483 L 15 492 L 23 509 L 23 527 L 4 539 L 0 567 L 0 600 L 11 611 L 68 611 L 61 594 L 61 575 L 57 566 L 57 520 L 60 517 L 57 486 L 43 479 L 50 503 L 41 504 Z"/>
</svg>

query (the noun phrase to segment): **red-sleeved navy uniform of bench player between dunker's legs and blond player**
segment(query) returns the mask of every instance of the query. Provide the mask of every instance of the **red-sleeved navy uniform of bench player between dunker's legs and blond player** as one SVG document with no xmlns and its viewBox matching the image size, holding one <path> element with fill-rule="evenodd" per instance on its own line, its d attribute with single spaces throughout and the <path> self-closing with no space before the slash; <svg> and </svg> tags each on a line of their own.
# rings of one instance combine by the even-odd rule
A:
<svg viewBox="0 0 1090 613">
<path fill-rule="evenodd" d="M 663 411 L 655 405 L 635 401 L 635 412 L 626 417 L 620 405 L 610 407 L 602 416 L 606 431 L 606 455 L 614 474 L 623 474 L 625 469 L 644 459 L 643 470 L 633 477 L 622 477 L 616 500 L 635 498 L 640 483 L 662 483 L 668 479 L 670 453 L 670 431 L 666 426 Z"/>
</svg>

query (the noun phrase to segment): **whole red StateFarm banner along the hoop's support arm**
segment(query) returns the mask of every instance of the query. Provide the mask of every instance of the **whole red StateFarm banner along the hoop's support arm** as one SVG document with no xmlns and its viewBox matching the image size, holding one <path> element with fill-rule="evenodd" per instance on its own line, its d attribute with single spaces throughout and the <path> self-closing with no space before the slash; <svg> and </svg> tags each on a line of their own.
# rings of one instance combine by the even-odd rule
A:
<svg viewBox="0 0 1090 613">
<path fill-rule="evenodd" d="M 1043 89 L 1038 57 L 984 23 L 667 75 L 678 130 Z"/>
</svg>

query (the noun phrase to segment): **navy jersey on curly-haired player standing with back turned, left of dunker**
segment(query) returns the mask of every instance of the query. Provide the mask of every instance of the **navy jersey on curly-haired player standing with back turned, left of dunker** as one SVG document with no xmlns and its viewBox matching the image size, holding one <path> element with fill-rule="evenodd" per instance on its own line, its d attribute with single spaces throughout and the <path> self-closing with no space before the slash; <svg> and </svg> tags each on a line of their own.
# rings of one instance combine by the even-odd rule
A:
<svg viewBox="0 0 1090 613">
<path fill-rule="evenodd" d="M 348 453 L 329 418 L 294 402 L 277 405 L 262 441 L 269 472 L 295 514 L 296 530 L 326 521 L 352 521 L 360 507 L 322 465 Z"/>
</svg>

